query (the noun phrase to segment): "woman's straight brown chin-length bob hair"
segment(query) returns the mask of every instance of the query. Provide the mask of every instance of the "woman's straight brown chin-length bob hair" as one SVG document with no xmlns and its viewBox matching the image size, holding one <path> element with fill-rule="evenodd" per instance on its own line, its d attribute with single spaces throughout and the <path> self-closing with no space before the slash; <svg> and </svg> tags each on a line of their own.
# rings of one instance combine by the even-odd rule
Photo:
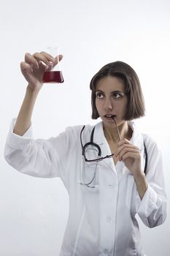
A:
<svg viewBox="0 0 170 256">
<path fill-rule="evenodd" d="M 96 86 L 101 78 L 114 76 L 123 81 L 125 95 L 128 97 L 127 111 L 124 120 L 132 120 L 144 116 L 144 97 L 140 81 L 134 69 L 123 61 L 115 61 L 102 67 L 90 81 L 92 118 L 99 117 L 96 109 Z"/>
</svg>

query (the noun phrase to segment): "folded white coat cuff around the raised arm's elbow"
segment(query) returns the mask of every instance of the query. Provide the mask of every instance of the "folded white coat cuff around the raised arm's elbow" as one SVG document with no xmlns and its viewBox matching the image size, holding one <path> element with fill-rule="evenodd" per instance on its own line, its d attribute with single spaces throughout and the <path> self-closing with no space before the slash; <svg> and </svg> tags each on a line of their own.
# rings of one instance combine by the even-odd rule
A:
<svg viewBox="0 0 170 256">
<path fill-rule="evenodd" d="M 30 126 L 23 136 L 16 135 L 13 130 L 15 127 L 16 118 L 13 118 L 10 124 L 9 133 L 7 135 L 7 144 L 12 148 L 23 148 L 33 139 L 32 127 Z"/>
</svg>

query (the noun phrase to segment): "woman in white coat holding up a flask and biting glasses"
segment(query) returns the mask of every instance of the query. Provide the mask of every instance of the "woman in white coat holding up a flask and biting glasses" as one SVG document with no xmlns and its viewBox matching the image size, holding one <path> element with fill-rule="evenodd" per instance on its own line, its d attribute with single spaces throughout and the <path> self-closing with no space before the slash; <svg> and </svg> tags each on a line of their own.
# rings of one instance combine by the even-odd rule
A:
<svg viewBox="0 0 170 256">
<path fill-rule="evenodd" d="M 136 214 L 147 227 L 161 225 L 166 194 L 161 152 L 131 121 L 144 116 L 139 78 L 128 64 L 107 64 L 90 82 L 92 118 L 102 121 L 34 140 L 34 103 L 45 70 L 55 64 L 45 52 L 26 53 L 21 63 L 26 97 L 12 121 L 5 158 L 21 173 L 62 179 L 69 193 L 69 220 L 61 256 L 142 256 Z"/>
</svg>

